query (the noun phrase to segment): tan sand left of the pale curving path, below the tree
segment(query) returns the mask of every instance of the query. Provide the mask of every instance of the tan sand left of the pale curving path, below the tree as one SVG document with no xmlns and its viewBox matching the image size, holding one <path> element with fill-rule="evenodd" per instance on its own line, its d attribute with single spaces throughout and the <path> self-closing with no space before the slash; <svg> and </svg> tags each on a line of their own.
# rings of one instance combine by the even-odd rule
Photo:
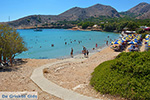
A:
<svg viewBox="0 0 150 100">
<path fill-rule="evenodd" d="M 39 100 L 61 100 L 53 95 L 43 92 L 30 79 L 32 71 L 41 65 L 58 61 L 56 59 L 23 59 L 24 63 L 7 68 L 0 69 L 0 91 L 9 92 L 38 92 Z"/>
</svg>

